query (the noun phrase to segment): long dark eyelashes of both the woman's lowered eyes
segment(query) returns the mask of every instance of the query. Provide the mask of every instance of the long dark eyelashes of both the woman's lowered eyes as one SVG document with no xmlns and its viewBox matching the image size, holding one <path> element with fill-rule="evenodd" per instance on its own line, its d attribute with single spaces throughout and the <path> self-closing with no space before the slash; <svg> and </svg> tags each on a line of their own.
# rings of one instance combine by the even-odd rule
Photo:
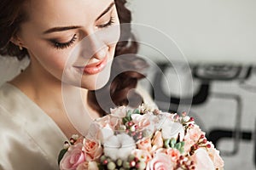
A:
<svg viewBox="0 0 256 170">
<path fill-rule="evenodd" d="M 99 25 L 97 27 L 100 29 L 107 28 L 108 26 L 112 26 L 113 23 L 114 23 L 113 17 L 110 17 L 110 20 L 108 21 L 108 23 Z M 77 39 L 78 39 L 77 35 L 74 34 L 72 39 L 69 42 L 56 42 L 55 40 L 53 40 L 52 42 L 54 43 L 55 48 L 64 49 L 64 48 L 69 48 L 71 45 L 73 45 L 73 42 L 75 42 Z"/>
</svg>

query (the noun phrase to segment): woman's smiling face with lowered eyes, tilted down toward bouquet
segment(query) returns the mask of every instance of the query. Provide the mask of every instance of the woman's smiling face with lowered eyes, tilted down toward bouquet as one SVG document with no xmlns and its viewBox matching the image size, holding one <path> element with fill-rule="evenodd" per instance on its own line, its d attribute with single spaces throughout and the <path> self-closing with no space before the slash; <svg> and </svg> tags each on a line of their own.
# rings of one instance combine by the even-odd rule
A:
<svg viewBox="0 0 256 170">
<path fill-rule="evenodd" d="M 32 0 L 25 9 L 17 37 L 41 81 L 54 77 L 87 89 L 108 82 L 120 33 L 113 0 Z"/>
</svg>

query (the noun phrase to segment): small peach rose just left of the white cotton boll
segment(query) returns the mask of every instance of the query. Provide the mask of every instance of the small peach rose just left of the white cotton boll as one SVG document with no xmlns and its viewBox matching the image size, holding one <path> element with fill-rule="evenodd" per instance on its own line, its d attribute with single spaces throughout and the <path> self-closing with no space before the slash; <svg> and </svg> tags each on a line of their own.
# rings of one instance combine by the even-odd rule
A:
<svg viewBox="0 0 256 170">
<path fill-rule="evenodd" d="M 102 145 L 93 139 L 85 139 L 84 150 L 86 153 L 86 161 L 94 161 L 102 156 Z"/>
</svg>

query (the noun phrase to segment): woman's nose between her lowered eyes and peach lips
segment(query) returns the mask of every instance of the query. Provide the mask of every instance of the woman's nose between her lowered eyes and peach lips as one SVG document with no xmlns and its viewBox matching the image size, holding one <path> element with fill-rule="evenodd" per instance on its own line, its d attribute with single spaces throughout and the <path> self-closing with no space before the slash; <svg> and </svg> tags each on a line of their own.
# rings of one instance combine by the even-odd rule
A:
<svg viewBox="0 0 256 170">
<path fill-rule="evenodd" d="M 103 59 L 108 52 L 108 46 L 96 36 L 91 34 L 80 42 L 80 55 L 86 59 Z"/>
</svg>

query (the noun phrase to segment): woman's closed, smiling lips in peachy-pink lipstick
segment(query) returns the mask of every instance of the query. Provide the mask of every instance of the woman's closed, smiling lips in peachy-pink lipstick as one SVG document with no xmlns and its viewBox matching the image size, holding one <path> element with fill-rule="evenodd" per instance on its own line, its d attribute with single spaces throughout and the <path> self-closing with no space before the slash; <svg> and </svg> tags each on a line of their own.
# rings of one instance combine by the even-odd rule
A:
<svg viewBox="0 0 256 170">
<path fill-rule="evenodd" d="M 100 60 L 99 62 L 92 63 L 90 65 L 86 65 L 85 67 L 78 67 L 79 70 L 82 70 L 85 74 L 93 75 L 101 72 L 105 66 L 107 65 L 108 56 L 106 56 L 104 59 Z"/>
</svg>

